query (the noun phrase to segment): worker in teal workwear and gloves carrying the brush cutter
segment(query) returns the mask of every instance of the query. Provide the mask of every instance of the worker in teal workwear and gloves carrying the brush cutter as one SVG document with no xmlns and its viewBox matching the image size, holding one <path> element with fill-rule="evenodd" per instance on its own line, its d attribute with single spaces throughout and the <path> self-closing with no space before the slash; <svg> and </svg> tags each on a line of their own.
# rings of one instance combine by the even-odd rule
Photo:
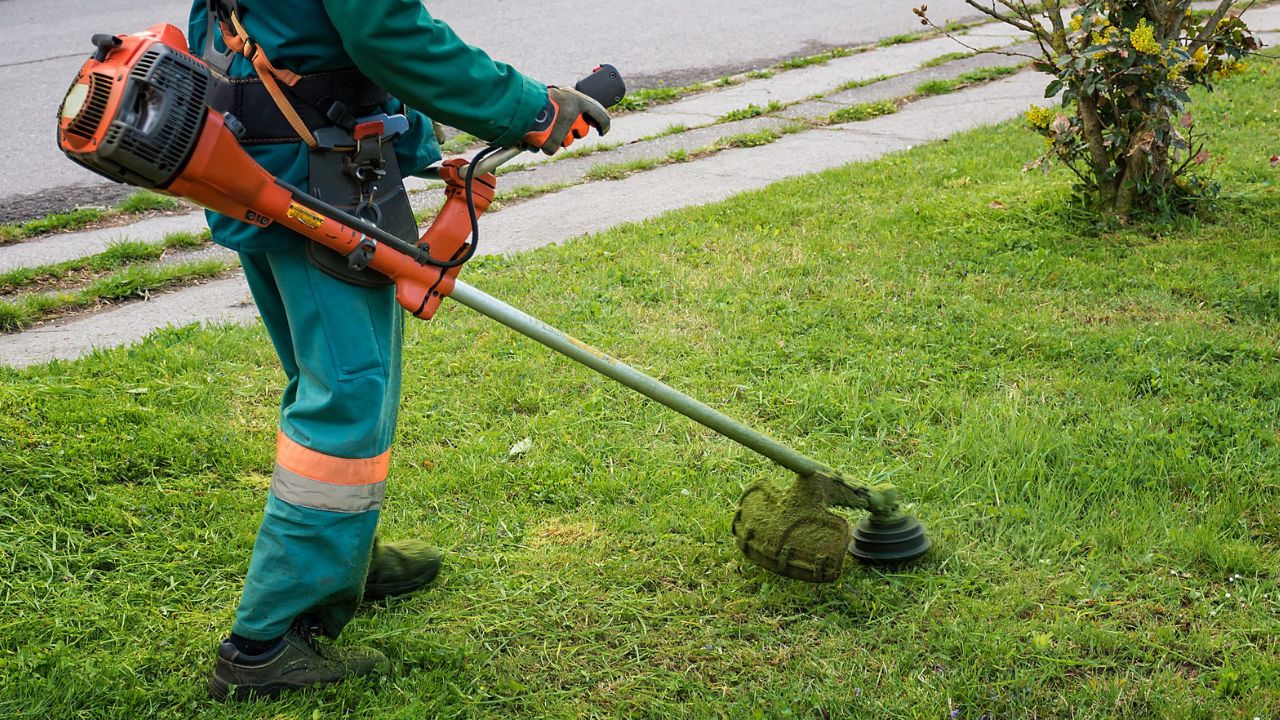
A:
<svg viewBox="0 0 1280 720">
<path fill-rule="evenodd" d="M 211 105 L 262 167 L 408 240 L 401 176 L 440 159 L 431 119 L 545 154 L 580 137 L 584 119 L 609 127 L 596 101 L 490 59 L 420 0 L 196 0 L 188 37 L 227 78 Z M 274 696 L 379 671 L 376 650 L 326 639 L 362 598 L 420 589 L 442 564 L 426 542 L 375 537 L 401 395 L 394 287 L 279 224 L 210 213 L 209 225 L 239 252 L 287 379 L 271 488 L 210 693 Z"/>
</svg>

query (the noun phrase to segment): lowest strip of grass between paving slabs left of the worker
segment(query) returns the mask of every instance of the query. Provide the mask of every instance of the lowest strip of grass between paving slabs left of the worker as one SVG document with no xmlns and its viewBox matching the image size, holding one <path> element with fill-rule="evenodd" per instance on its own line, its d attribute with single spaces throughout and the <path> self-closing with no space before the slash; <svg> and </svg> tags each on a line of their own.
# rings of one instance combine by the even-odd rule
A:
<svg viewBox="0 0 1280 720">
<path fill-rule="evenodd" d="M 67 292 L 19 295 L 0 301 L 0 332 L 17 332 L 70 310 L 92 307 L 111 300 L 146 297 L 148 292 L 209 278 L 236 266 L 218 259 L 172 265 L 132 265 Z"/>
</svg>

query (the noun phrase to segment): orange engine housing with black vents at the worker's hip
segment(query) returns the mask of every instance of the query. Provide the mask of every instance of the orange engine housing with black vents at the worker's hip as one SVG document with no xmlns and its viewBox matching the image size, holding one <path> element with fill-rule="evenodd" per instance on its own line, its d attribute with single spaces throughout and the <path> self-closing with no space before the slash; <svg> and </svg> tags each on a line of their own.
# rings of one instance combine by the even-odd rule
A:
<svg viewBox="0 0 1280 720">
<path fill-rule="evenodd" d="M 191 55 L 182 31 L 157 24 L 125 36 L 96 36 L 99 53 L 84 63 L 63 101 L 58 141 L 68 158 L 115 182 L 147 187 L 266 227 L 273 223 L 358 258 L 396 282 L 397 301 L 431 318 L 453 291 L 471 236 L 466 161 L 442 168 L 445 202 L 417 242 L 390 237 L 326 208 L 271 176 L 241 146 L 227 119 L 209 108 L 218 82 Z M 475 178 L 476 214 L 493 201 L 493 174 Z"/>
</svg>

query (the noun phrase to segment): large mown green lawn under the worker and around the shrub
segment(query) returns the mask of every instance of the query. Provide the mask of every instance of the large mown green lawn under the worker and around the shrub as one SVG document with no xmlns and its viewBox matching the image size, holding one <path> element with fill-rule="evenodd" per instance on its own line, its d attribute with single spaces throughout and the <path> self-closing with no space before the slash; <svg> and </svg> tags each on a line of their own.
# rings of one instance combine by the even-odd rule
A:
<svg viewBox="0 0 1280 720">
<path fill-rule="evenodd" d="M 0 716 L 1276 717 L 1267 68 L 1198 102 L 1228 196 L 1158 233 L 1093 228 L 1007 126 L 465 272 L 891 478 L 936 542 L 906 570 L 746 565 L 737 495 L 780 470 L 449 306 L 408 332 L 383 525 L 445 574 L 349 632 L 394 675 L 215 706 L 271 469 L 265 334 L 0 370 Z"/>
</svg>

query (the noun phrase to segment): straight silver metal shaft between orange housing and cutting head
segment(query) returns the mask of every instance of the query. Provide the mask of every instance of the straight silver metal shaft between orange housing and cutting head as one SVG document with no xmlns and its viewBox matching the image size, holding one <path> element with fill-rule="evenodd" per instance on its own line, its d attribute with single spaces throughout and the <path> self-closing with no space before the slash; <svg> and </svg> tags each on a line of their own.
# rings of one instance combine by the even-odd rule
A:
<svg viewBox="0 0 1280 720">
<path fill-rule="evenodd" d="M 708 407 L 671 386 L 653 379 L 640 370 L 461 281 L 454 286 L 449 297 L 526 337 L 536 340 L 566 357 L 576 360 L 627 386 L 650 400 L 671 407 L 690 420 L 703 424 L 733 442 L 759 452 L 797 475 L 809 477 L 815 473 L 829 471 L 826 465 L 817 460 L 753 430 L 728 415 Z"/>
</svg>

